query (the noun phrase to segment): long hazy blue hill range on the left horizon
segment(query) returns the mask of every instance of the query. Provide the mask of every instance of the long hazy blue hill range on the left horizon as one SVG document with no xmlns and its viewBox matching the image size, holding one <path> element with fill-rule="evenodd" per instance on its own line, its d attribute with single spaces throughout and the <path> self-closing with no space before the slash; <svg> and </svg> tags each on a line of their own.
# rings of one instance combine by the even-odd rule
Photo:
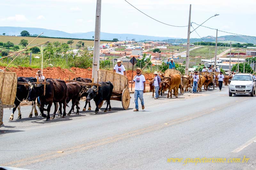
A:
<svg viewBox="0 0 256 170">
<path fill-rule="evenodd" d="M 26 27 L 12 27 L 12 26 L 0 26 L 0 35 L 5 33 L 5 35 L 15 35 L 19 36 L 20 32 L 26 30 L 31 35 L 33 34 L 40 34 L 44 32 L 43 36 L 47 37 L 62 37 L 62 38 L 79 38 L 79 39 L 92 39 L 94 36 L 94 31 L 87 32 L 87 33 L 66 33 L 64 31 L 58 30 L 50 30 L 44 28 L 26 28 Z M 137 34 L 116 34 L 116 33 L 100 33 L 100 40 L 113 40 L 117 38 L 118 40 L 132 40 L 135 39 L 136 41 L 140 40 L 152 40 L 152 41 L 162 41 L 166 39 L 176 39 L 172 37 L 156 37 L 156 36 L 147 36 L 147 35 L 137 35 Z"/>
</svg>

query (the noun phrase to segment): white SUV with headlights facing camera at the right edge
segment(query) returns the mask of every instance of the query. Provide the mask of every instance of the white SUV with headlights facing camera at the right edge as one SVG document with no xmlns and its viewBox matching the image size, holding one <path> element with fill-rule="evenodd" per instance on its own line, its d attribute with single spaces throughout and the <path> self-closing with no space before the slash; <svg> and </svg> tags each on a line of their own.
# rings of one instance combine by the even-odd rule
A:
<svg viewBox="0 0 256 170">
<path fill-rule="evenodd" d="M 255 81 L 252 74 L 239 73 L 233 76 L 229 84 L 229 96 L 232 94 L 245 94 L 250 93 L 251 97 L 255 94 Z"/>
</svg>

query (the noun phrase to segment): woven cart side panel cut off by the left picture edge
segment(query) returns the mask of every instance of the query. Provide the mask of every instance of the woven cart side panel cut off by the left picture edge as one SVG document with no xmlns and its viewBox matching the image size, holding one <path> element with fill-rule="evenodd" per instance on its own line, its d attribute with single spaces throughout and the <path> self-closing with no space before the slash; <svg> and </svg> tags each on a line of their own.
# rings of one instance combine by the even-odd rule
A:
<svg viewBox="0 0 256 170">
<path fill-rule="evenodd" d="M 13 105 L 17 90 L 16 73 L 0 71 L 0 98 L 4 105 Z"/>
</svg>

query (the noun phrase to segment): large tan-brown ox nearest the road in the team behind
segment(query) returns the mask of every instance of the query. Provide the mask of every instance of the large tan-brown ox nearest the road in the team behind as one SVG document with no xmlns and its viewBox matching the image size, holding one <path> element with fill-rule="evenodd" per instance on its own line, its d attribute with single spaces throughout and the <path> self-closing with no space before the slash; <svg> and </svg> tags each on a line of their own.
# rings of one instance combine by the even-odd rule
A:
<svg viewBox="0 0 256 170">
<path fill-rule="evenodd" d="M 169 77 L 164 77 L 162 79 L 165 79 L 163 85 L 164 88 L 168 90 L 167 98 L 169 98 L 169 93 L 170 93 L 170 98 L 172 98 L 172 89 L 174 90 L 174 95 L 176 98 L 178 97 L 178 90 L 181 84 L 181 77 L 179 74 L 171 74 Z"/>
</svg>

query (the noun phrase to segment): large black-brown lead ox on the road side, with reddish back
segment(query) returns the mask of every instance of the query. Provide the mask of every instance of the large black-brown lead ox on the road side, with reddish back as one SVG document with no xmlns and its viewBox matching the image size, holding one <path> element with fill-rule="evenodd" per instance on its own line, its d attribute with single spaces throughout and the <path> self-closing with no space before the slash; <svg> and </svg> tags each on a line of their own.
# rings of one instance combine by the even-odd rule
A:
<svg viewBox="0 0 256 170">
<path fill-rule="evenodd" d="M 51 119 L 55 118 L 55 114 L 58 110 L 58 102 L 63 103 L 63 118 L 66 116 L 66 100 L 67 100 L 67 85 L 65 81 L 60 79 L 46 78 L 46 82 L 49 82 L 49 85 L 46 85 L 45 95 L 44 95 L 44 85 L 37 85 L 32 83 L 29 88 L 28 101 L 35 100 L 36 97 L 40 97 L 41 105 L 40 112 L 42 117 L 46 117 L 46 121 L 50 119 L 50 110 L 52 103 L 54 103 L 54 112 Z M 47 116 L 44 114 L 44 105 L 47 105 Z"/>
</svg>

